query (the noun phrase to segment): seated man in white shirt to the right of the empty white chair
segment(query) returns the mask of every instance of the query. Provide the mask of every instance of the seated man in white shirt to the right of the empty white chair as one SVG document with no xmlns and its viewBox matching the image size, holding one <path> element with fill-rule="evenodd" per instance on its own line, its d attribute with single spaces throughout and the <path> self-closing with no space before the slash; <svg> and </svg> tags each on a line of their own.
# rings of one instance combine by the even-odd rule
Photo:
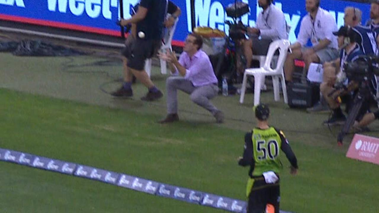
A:
<svg viewBox="0 0 379 213">
<path fill-rule="evenodd" d="M 308 14 L 301 20 L 298 40 L 290 46 L 292 53 L 287 55 L 284 63 L 286 81 L 292 81 L 294 60 L 305 62 L 305 70 L 310 63 L 325 63 L 338 58 L 337 37 L 333 35 L 337 31 L 337 24 L 333 16 L 320 6 L 320 0 L 305 0 L 305 9 Z M 308 40 L 312 47 L 305 48 Z"/>
</svg>

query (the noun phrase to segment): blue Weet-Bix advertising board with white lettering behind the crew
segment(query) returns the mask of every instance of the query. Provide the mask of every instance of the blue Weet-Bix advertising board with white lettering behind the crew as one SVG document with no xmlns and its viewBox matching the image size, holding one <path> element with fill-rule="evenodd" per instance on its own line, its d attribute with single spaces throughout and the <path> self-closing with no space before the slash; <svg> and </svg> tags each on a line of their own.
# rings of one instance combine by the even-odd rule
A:
<svg viewBox="0 0 379 213">
<path fill-rule="evenodd" d="M 124 17 L 130 17 L 131 6 L 138 0 L 123 0 Z M 175 41 L 184 41 L 191 31 L 190 0 L 172 0 L 182 9 Z M 234 0 L 194 0 L 196 26 L 209 26 L 228 32 L 225 8 Z M 245 25 L 254 26 L 260 8 L 257 0 L 242 0 L 248 3 L 250 13 L 242 17 Z M 301 18 L 306 14 L 305 0 L 275 0 L 282 8 L 288 25 L 291 26 L 290 41 L 296 40 Z M 370 5 L 342 0 L 322 0 L 321 7 L 335 17 L 338 27 L 343 25 L 344 8 L 355 6 L 363 11 L 363 22 L 369 17 Z M 0 0 L 0 19 L 47 25 L 72 30 L 120 36 L 115 24 L 120 17 L 119 0 Z"/>
</svg>

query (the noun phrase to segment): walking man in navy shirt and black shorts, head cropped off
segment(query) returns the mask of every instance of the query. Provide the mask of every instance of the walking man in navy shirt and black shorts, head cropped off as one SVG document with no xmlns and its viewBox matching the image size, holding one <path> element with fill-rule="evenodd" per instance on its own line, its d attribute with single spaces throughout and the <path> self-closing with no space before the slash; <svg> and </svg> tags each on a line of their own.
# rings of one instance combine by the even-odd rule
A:
<svg viewBox="0 0 379 213">
<path fill-rule="evenodd" d="M 168 0 L 141 0 L 137 13 L 130 19 L 121 19 L 120 25 L 135 24 L 135 39 L 128 42 L 122 51 L 127 58 L 126 79 L 122 88 L 114 92 L 114 96 L 122 93 L 123 97 L 133 96 L 132 75 L 145 85 L 149 91 L 141 100 L 153 101 L 163 96 L 144 70 L 145 60 L 151 58 L 160 48 L 164 20 L 167 14 Z M 121 91 L 122 90 L 122 91 Z M 117 95 L 116 95 L 117 93 Z"/>
</svg>

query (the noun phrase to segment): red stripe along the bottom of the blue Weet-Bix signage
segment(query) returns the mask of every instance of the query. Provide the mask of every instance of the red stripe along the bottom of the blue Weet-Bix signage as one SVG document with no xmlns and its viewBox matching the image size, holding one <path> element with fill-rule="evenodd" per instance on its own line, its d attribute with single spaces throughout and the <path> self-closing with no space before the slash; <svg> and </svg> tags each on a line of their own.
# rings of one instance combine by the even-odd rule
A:
<svg viewBox="0 0 379 213">
<path fill-rule="evenodd" d="M 47 21 L 47 20 L 41 20 L 41 19 L 31 19 L 31 18 L 11 16 L 11 15 L 5 15 L 5 14 L 0 14 L 0 19 L 15 21 L 15 22 L 22 22 L 22 23 L 31 23 L 31 24 L 42 25 L 42 26 L 47 26 L 47 27 L 57 27 L 57 28 L 63 28 L 63 29 L 68 29 L 68 30 L 77 30 L 77 31 L 84 31 L 84 32 L 89 32 L 89 33 L 105 34 L 105 35 L 117 36 L 117 37 L 121 36 L 120 31 L 117 31 L 117 30 L 105 30 L 102 28 L 86 27 L 82 25 Z M 172 45 L 183 47 L 184 42 L 172 41 Z"/>
</svg>

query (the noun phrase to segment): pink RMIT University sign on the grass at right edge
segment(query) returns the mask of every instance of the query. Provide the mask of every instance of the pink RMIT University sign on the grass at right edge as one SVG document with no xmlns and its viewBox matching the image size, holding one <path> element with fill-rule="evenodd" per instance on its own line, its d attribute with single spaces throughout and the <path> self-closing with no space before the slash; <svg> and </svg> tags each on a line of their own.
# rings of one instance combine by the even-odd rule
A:
<svg viewBox="0 0 379 213">
<path fill-rule="evenodd" d="M 379 138 L 354 135 L 346 157 L 379 164 Z"/>
</svg>

